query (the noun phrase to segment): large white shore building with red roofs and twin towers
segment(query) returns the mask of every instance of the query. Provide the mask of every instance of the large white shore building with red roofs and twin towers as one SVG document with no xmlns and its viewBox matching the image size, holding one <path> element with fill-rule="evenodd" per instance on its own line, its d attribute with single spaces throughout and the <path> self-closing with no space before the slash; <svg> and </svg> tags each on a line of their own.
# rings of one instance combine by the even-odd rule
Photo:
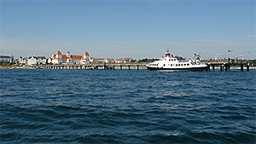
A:
<svg viewBox="0 0 256 144">
<path fill-rule="evenodd" d="M 58 50 L 55 55 L 48 59 L 48 63 L 52 64 L 88 64 L 90 63 L 89 53 L 86 51 L 84 55 L 70 55 L 68 51 L 66 55 L 62 55 Z"/>
</svg>

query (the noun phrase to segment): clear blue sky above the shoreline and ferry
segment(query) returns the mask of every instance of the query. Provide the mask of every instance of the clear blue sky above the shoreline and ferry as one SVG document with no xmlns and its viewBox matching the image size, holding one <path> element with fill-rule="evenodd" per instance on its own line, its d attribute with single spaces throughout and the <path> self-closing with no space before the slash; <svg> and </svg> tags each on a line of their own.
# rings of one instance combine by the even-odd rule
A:
<svg viewBox="0 0 256 144">
<path fill-rule="evenodd" d="M 0 0 L 0 55 L 256 59 L 254 0 Z M 228 52 L 228 50 L 232 52 Z"/>
</svg>

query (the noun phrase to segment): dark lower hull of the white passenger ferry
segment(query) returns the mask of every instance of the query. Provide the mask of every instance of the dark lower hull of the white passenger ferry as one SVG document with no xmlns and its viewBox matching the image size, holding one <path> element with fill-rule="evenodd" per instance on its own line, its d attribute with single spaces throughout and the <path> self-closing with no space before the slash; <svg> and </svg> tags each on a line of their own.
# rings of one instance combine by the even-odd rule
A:
<svg viewBox="0 0 256 144">
<path fill-rule="evenodd" d="M 162 71 L 162 72 L 172 72 L 172 71 L 190 71 L 190 72 L 203 72 L 207 71 L 206 67 L 188 67 L 188 68 L 156 68 L 148 67 L 149 71 Z"/>
</svg>

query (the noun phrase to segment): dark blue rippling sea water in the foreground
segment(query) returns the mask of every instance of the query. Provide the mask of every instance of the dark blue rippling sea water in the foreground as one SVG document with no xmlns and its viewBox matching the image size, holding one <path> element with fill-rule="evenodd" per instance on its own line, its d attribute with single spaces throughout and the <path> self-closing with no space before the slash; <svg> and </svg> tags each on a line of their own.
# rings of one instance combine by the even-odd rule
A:
<svg viewBox="0 0 256 144">
<path fill-rule="evenodd" d="M 255 143 L 255 76 L 0 69 L 0 142 Z"/>
</svg>

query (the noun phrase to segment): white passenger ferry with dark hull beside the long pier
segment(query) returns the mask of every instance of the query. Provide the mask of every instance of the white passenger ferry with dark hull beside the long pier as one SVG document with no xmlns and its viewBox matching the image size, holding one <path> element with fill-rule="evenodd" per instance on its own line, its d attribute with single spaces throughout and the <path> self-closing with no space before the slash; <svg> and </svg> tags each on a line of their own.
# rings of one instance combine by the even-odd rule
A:
<svg viewBox="0 0 256 144">
<path fill-rule="evenodd" d="M 207 65 L 201 63 L 201 60 L 178 60 L 166 50 L 166 56 L 160 60 L 148 63 L 148 70 L 154 71 L 206 71 Z"/>
</svg>

